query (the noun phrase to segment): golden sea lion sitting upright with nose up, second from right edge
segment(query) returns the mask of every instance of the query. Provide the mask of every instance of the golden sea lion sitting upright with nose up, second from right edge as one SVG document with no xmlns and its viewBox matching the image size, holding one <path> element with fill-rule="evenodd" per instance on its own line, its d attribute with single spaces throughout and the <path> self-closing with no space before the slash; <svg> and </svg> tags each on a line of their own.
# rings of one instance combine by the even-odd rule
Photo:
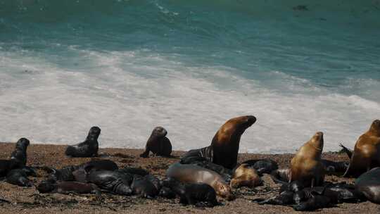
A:
<svg viewBox="0 0 380 214">
<path fill-rule="evenodd" d="M 289 182 L 301 181 L 305 187 L 319 186 L 324 181 L 324 166 L 321 162 L 323 133 L 317 132 L 291 159 Z"/>
</svg>

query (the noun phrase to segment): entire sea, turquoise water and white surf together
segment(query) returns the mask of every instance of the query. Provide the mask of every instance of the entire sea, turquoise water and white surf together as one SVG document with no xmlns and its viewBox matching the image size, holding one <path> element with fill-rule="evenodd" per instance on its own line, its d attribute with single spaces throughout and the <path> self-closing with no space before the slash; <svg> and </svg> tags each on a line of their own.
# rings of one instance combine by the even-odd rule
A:
<svg viewBox="0 0 380 214">
<path fill-rule="evenodd" d="M 241 152 L 317 131 L 353 146 L 380 118 L 380 0 L 0 0 L 0 141 L 208 146 L 238 115 Z"/>
</svg>

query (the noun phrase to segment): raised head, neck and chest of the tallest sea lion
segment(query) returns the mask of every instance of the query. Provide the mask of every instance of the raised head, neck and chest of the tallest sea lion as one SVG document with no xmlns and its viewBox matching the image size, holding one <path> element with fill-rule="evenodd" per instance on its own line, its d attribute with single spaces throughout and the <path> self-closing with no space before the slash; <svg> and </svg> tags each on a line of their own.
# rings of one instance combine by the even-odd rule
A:
<svg viewBox="0 0 380 214">
<path fill-rule="evenodd" d="M 236 166 L 241 134 L 256 122 L 252 115 L 241 116 L 228 120 L 216 132 L 211 148 L 213 163 L 232 169 Z"/>
</svg>

